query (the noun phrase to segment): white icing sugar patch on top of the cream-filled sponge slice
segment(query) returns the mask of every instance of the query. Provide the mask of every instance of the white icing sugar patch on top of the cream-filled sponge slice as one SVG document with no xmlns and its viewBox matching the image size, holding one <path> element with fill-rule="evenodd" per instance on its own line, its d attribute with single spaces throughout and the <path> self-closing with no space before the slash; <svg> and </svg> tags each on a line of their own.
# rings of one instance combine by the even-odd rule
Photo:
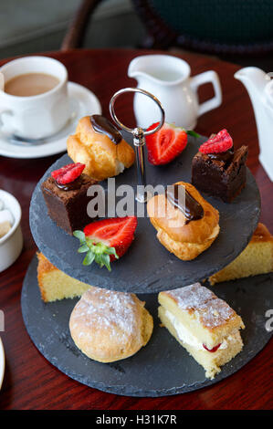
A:
<svg viewBox="0 0 273 429">
<path fill-rule="evenodd" d="M 201 286 L 200 283 L 194 283 L 184 288 L 167 290 L 165 293 L 175 299 L 180 309 L 199 309 L 208 300 L 216 298 L 211 290 Z"/>
</svg>

